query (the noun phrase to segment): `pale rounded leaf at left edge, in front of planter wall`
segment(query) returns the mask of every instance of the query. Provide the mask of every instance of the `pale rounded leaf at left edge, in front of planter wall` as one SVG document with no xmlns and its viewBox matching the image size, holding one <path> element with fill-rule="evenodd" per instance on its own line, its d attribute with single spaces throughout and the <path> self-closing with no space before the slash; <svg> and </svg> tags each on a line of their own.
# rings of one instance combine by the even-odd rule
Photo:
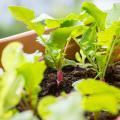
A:
<svg viewBox="0 0 120 120">
<path fill-rule="evenodd" d="M 6 71 L 15 69 L 25 62 L 22 48 L 22 44 L 18 42 L 10 43 L 4 48 L 1 62 Z"/>
</svg>

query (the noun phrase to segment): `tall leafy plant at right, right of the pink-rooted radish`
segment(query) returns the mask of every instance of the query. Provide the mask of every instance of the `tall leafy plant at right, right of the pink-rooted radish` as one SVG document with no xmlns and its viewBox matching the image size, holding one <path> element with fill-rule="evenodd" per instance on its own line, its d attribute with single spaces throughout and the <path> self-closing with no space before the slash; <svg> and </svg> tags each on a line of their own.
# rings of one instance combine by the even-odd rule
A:
<svg viewBox="0 0 120 120">
<path fill-rule="evenodd" d="M 94 18 L 94 22 L 89 25 L 82 37 L 76 37 L 76 40 L 97 72 L 96 77 L 104 80 L 114 48 L 119 44 L 119 22 L 113 22 L 111 26 L 105 29 L 106 13 L 90 2 L 84 2 L 82 9 Z"/>
</svg>

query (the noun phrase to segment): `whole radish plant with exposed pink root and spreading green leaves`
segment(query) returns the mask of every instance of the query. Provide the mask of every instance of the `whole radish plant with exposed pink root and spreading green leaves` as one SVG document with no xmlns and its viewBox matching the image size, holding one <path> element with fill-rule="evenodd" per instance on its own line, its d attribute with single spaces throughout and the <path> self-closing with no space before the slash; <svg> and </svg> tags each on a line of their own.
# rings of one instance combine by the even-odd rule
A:
<svg viewBox="0 0 120 120">
<path fill-rule="evenodd" d="M 87 25 L 92 24 L 94 19 L 87 12 L 82 12 L 80 14 L 69 14 L 62 19 L 46 19 L 41 22 L 35 17 L 32 10 L 18 6 L 10 6 L 9 9 L 17 20 L 23 21 L 39 35 L 46 48 L 44 55 L 46 64 L 57 70 L 57 83 L 59 84 L 63 80 L 62 67 L 69 64 L 75 65 L 75 62 L 65 58 L 66 45 L 69 44 L 71 39 L 74 40 L 75 36 L 82 35 L 83 31 L 88 28 Z M 102 14 L 102 12 L 99 13 Z M 102 24 L 99 26 L 101 29 L 104 27 Z M 43 37 L 45 27 L 55 28 L 48 40 Z"/>
</svg>

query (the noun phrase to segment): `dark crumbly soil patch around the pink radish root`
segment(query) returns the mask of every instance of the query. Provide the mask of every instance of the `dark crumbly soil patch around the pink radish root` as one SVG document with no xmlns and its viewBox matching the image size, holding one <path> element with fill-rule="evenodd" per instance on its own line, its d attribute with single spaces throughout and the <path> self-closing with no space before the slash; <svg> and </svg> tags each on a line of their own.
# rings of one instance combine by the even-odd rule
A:
<svg viewBox="0 0 120 120">
<path fill-rule="evenodd" d="M 59 96 L 61 92 L 70 93 L 73 89 L 72 83 L 83 78 L 93 78 L 96 76 L 96 73 L 88 68 L 80 68 L 67 66 L 63 68 L 64 80 L 58 85 L 57 84 L 57 71 L 51 68 L 48 68 L 45 71 L 44 80 L 41 83 L 42 91 L 39 97 L 46 95 Z"/>
</svg>

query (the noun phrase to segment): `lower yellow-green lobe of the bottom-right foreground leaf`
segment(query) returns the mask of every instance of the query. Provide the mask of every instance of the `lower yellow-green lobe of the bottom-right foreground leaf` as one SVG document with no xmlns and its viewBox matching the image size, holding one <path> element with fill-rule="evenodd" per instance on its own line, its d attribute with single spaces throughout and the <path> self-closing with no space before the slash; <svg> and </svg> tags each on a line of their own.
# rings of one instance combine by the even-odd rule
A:
<svg viewBox="0 0 120 120">
<path fill-rule="evenodd" d="M 94 95 L 83 98 L 83 108 L 90 112 L 99 112 L 101 110 L 117 114 L 119 109 L 117 99 L 112 95 Z"/>
</svg>

